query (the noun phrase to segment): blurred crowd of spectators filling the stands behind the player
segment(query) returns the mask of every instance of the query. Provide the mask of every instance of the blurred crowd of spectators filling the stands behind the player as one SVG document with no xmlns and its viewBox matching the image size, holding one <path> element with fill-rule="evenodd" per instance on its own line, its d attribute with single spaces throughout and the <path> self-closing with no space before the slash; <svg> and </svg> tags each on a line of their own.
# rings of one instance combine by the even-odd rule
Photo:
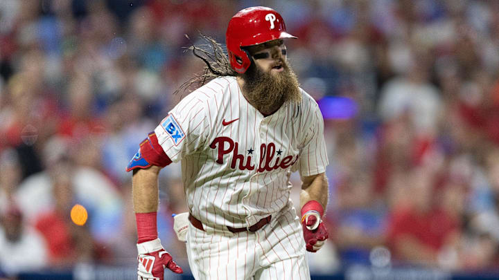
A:
<svg viewBox="0 0 499 280">
<path fill-rule="evenodd" d="M 325 118 L 331 240 L 311 271 L 499 268 L 499 1 L 2 0 L 0 278 L 134 265 L 125 167 L 202 70 L 185 48 L 256 5 L 299 37 L 290 64 Z M 159 238 L 187 267 L 180 176 L 161 171 Z"/>
</svg>

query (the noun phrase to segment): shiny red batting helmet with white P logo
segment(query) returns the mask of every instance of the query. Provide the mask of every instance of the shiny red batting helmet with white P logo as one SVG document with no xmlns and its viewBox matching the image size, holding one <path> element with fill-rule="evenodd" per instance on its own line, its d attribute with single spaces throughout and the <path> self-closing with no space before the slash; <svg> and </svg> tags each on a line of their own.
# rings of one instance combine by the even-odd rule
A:
<svg viewBox="0 0 499 280">
<path fill-rule="evenodd" d="M 242 74 L 251 64 L 251 59 L 241 47 L 281 38 L 296 37 L 286 32 L 286 25 L 279 12 L 261 6 L 240 10 L 229 21 L 225 33 L 225 43 L 232 68 Z"/>
</svg>

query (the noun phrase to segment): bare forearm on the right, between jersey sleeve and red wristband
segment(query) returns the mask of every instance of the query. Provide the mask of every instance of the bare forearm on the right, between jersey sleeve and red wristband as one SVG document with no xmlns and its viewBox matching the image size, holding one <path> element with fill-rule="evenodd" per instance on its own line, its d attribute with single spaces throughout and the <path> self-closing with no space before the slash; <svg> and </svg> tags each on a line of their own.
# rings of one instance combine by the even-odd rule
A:
<svg viewBox="0 0 499 280">
<path fill-rule="evenodd" d="M 323 209 L 326 209 L 329 198 L 328 180 L 324 173 L 317 176 L 302 178 L 300 193 L 300 207 L 303 207 L 310 200 L 317 200 Z"/>
</svg>

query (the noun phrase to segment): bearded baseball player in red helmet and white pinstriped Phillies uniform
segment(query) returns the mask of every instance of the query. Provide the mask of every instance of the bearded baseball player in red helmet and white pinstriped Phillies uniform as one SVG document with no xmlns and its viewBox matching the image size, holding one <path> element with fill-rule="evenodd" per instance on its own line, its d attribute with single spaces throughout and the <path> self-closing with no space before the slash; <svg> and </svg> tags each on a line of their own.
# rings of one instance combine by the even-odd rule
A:
<svg viewBox="0 0 499 280">
<path fill-rule="evenodd" d="M 310 279 L 306 250 L 316 252 L 329 237 L 321 220 L 328 158 L 317 103 L 286 61 L 287 38 L 296 37 L 278 12 L 252 7 L 229 21 L 228 57 L 216 43 L 214 62 L 193 47 L 207 64 L 204 85 L 149 133 L 128 166 L 138 279 L 162 280 L 164 268 L 182 273 L 156 227 L 159 171 L 179 161 L 195 279 Z M 303 182 L 301 219 L 290 200 L 294 171 Z"/>
</svg>

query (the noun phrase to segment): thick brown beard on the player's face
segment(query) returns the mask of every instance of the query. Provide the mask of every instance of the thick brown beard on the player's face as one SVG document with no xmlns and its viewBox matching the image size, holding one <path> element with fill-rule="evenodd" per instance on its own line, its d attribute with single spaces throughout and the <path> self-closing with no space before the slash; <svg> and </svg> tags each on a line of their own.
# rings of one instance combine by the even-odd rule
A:
<svg viewBox="0 0 499 280">
<path fill-rule="evenodd" d="M 285 61 L 283 71 L 272 75 L 254 63 L 243 74 L 243 91 L 248 102 L 262 113 L 274 113 L 285 102 L 301 102 L 297 75 Z"/>
</svg>

